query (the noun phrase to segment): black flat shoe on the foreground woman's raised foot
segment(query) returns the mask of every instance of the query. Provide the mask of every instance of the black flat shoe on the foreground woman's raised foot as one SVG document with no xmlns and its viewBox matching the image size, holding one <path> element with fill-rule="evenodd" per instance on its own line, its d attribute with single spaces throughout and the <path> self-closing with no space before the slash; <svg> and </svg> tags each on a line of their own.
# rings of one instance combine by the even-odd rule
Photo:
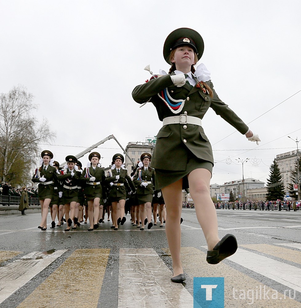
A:
<svg viewBox="0 0 301 308">
<path fill-rule="evenodd" d="M 234 235 L 226 234 L 213 248 L 207 251 L 206 261 L 209 264 L 218 264 L 230 257 L 237 250 L 237 241 Z"/>
</svg>

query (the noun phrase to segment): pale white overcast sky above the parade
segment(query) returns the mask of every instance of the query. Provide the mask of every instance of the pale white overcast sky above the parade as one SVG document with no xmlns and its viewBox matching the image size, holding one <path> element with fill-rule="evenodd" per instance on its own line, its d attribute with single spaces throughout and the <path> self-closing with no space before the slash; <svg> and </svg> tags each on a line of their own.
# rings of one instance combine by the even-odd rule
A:
<svg viewBox="0 0 301 308">
<path fill-rule="evenodd" d="M 262 140 L 259 146 L 248 141 L 210 108 L 203 127 L 216 161 L 212 184 L 242 178 L 237 158 L 251 159 L 244 164 L 245 178 L 266 182 L 276 155 L 296 148 L 287 136 L 301 138 L 301 92 L 294 95 L 301 90 L 298 0 L 0 0 L 0 5 L 0 93 L 21 84 L 34 95 L 37 118 L 47 118 L 57 133 L 41 149 L 51 150 L 60 163 L 111 134 L 123 147 L 157 134 L 162 123 L 155 108 L 151 103 L 139 108 L 131 93 L 150 78 L 143 70 L 147 64 L 154 73 L 168 71 L 163 44 L 180 27 L 202 35 L 199 63 L 211 71 L 220 99 L 252 122 L 250 129 Z M 121 150 L 110 140 L 97 151 L 107 167 Z M 81 158 L 83 166 L 87 161 L 87 155 Z"/>
</svg>

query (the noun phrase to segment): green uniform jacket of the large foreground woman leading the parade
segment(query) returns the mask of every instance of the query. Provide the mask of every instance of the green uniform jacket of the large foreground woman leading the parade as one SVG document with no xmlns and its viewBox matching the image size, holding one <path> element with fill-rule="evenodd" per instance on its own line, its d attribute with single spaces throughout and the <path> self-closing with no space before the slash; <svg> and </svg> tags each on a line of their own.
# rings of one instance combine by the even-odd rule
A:
<svg viewBox="0 0 301 308">
<path fill-rule="evenodd" d="M 171 75 L 175 75 L 173 72 Z M 195 79 L 196 80 L 196 79 Z M 198 83 L 198 81 L 196 80 Z M 164 118 L 184 114 L 202 119 L 211 107 L 217 115 L 236 128 L 241 134 L 248 131 L 248 126 L 217 96 L 211 81 L 206 82 L 213 91 L 213 98 L 204 94 L 202 88 L 194 86 L 192 89 L 185 84 L 183 87 L 174 86 L 170 75 L 152 79 L 134 88 L 132 96 L 137 103 L 150 101 L 156 107 L 160 121 Z M 173 113 L 157 95 L 165 88 L 173 99 L 186 99 L 182 111 Z M 172 102 L 173 104 L 176 104 Z M 186 142 L 185 142 L 185 141 Z M 197 158 L 210 161 L 213 165 L 211 144 L 201 126 L 193 124 L 168 124 L 163 126 L 157 134 L 156 147 L 152 157 L 152 167 L 185 171 L 189 149 Z M 179 157 L 176 164 L 170 157 Z"/>
</svg>

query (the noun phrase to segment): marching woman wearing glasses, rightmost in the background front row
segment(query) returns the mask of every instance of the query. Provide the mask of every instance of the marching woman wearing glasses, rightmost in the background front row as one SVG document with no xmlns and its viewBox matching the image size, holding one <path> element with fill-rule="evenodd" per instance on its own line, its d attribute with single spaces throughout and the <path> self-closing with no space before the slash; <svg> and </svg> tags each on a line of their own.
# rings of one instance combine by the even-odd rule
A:
<svg viewBox="0 0 301 308">
<path fill-rule="evenodd" d="M 141 219 L 141 228 L 144 230 L 147 217 L 147 229 L 150 229 L 153 224 L 152 219 L 152 196 L 154 194 L 155 169 L 149 167 L 152 156 L 149 153 L 143 153 L 140 160 L 143 167 L 138 168 L 134 175 L 134 183 L 137 185 L 137 198 L 139 203 L 139 213 Z M 145 215 L 146 209 L 146 215 Z M 139 222 L 138 222 L 139 223 Z"/>
</svg>

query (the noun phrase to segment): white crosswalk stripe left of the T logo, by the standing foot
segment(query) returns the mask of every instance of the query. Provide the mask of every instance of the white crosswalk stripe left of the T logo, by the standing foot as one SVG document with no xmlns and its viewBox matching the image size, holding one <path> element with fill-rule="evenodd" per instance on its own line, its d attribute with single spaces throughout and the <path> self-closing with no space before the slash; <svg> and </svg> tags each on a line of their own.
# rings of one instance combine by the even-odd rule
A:
<svg viewBox="0 0 301 308">
<path fill-rule="evenodd" d="M 121 248 L 118 308 L 191 308 L 193 298 L 153 249 Z"/>
</svg>

